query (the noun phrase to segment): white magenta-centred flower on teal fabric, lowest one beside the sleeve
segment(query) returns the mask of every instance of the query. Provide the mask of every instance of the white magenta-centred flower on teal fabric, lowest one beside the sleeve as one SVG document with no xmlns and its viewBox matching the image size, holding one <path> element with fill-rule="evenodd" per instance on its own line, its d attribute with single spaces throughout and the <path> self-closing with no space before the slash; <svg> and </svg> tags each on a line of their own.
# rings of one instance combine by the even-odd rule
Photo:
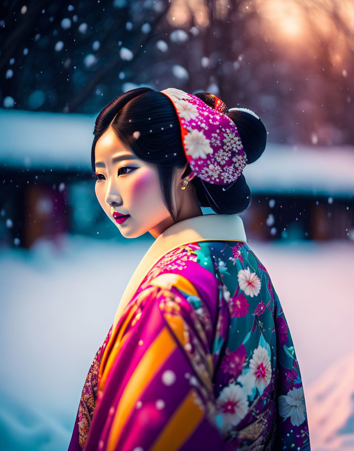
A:
<svg viewBox="0 0 354 451">
<path fill-rule="evenodd" d="M 220 392 L 216 399 L 216 408 L 223 420 L 220 427 L 226 432 L 246 416 L 248 412 L 247 396 L 239 385 L 232 383 Z"/>
</svg>

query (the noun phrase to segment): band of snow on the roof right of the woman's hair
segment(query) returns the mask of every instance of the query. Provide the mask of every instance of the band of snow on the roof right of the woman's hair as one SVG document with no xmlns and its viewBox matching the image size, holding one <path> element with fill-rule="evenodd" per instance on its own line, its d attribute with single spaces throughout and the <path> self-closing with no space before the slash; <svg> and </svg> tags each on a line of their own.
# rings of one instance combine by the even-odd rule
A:
<svg viewBox="0 0 354 451">
<path fill-rule="evenodd" d="M 353 147 L 268 143 L 243 175 L 251 192 L 347 196 L 354 192 Z"/>
</svg>

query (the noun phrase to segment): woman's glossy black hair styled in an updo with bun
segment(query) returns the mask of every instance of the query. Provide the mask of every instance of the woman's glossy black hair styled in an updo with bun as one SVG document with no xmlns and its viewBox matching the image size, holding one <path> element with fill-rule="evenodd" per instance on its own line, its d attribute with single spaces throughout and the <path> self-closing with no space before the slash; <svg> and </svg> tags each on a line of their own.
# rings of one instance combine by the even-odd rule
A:
<svg viewBox="0 0 354 451">
<path fill-rule="evenodd" d="M 208 93 L 195 94 L 203 102 L 214 108 L 214 97 Z M 247 164 L 255 162 L 266 148 L 267 131 L 262 121 L 252 113 L 242 109 L 227 110 L 225 113 L 236 124 Z M 178 115 L 171 100 L 163 93 L 150 88 L 137 88 L 118 96 L 98 115 L 94 129 L 91 150 L 91 164 L 95 171 L 95 146 L 99 137 L 112 127 L 117 138 L 140 160 L 157 166 L 161 191 L 166 207 L 174 221 L 171 200 L 171 180 L 174 169 L 187 163 L 184 153 L 181 127 Z M 139 133 L 134 133 L 138 131 Z M 191 172 L 188 165 L 183 177 Z M 196 176 L 190 183 L 196 190 L 202 207 L 211 207 L 216 213 L 235 214 L 244 211 L 251 200 L 250 189 L 244 175 L 227 190 L 228 185 L 215 185 L 204 182 Z"/>
</svg>

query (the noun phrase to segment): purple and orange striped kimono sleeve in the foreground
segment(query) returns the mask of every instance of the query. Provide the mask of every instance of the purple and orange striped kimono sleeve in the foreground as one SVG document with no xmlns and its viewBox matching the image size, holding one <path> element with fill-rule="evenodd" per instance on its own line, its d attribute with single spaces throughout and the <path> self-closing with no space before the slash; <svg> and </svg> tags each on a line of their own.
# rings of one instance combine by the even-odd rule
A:
<svg viewBox="0 0 354 451">
<path fill-rule="evenodd" d="M 138 290 L 102 355 L 84 450 L 222 450 L 212 387 L 215 277 L 163 273 Z"/>
</svg>

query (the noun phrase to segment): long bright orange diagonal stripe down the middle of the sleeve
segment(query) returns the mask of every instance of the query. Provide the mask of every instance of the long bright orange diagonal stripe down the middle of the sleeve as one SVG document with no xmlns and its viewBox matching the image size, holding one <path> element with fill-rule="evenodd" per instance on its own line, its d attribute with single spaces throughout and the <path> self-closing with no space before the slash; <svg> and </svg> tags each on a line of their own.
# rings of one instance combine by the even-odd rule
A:
<svg viewBox="0 0 354 451">
<path fill-rule="evenodd" d="M 116 449 L 119 436 L 136 402 L 175 348 L 176 342 L 167 327 L 164 327 L 141 358 L 124 389 L 112 421 L 107 451 Z"/>
</svg>

